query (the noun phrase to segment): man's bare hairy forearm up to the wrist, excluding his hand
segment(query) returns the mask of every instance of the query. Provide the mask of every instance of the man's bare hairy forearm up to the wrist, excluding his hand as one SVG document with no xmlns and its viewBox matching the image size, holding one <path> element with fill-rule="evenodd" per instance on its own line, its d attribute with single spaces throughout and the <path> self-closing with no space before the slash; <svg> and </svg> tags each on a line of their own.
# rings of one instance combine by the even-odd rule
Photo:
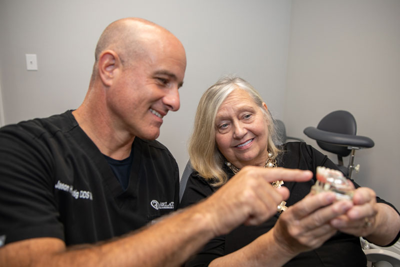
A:
<svg viewBox="0 0 400 267">
<path fill-rule="evenodd" d="M 214 236 L 203 207 L 167 216 L 140 232 L 95 245 L 65 248 L 54 238 L 8 244 L 0 266 L 179 266 Z"/>
</svg>

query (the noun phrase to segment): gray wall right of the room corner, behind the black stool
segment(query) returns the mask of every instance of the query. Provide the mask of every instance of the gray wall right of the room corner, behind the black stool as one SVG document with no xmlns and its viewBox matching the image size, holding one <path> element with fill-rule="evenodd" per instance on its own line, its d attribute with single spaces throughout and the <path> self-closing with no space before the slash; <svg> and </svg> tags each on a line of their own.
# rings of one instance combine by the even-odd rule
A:
<svg viewBox="0 0 400 267">
<path fill-rule="evenodd" d="M 288 134 L 317 147 L 302 130 L 350 111 L 375 142 L 356 152 L 355 181 L 400 207 L 400 1 L 293 0 L 288 58 Z"/>
</svg>

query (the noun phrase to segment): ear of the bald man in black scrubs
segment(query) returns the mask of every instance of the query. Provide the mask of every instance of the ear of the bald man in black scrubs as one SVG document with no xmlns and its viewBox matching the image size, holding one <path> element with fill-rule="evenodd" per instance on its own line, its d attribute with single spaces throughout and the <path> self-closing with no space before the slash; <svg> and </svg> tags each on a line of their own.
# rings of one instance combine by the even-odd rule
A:
<svg viewBox="0 0 400 267">
<path fill-rule="evenodd" d="M 103 51 L 97 64 L 98 76 L 105 86 L 110 86 L 121 66 L 118 55 L 112 50 Z"/>
</svg>

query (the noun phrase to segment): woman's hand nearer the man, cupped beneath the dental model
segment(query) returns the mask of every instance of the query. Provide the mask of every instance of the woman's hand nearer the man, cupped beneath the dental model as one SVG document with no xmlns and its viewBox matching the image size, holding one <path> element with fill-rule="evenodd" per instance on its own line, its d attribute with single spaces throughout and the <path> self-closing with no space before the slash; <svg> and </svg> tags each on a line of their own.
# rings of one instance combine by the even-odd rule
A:
<svg viewBox="0 0 400 267">
<path fill-rule="evenodd" d="M 321 246 L 336 233 L 330 221 L 353 207 L 350 201 L 334 201 L 332 192 L 323 192 L 289 207 L 272 228 L 276 245 L 293 256 Z"/>
</svg>

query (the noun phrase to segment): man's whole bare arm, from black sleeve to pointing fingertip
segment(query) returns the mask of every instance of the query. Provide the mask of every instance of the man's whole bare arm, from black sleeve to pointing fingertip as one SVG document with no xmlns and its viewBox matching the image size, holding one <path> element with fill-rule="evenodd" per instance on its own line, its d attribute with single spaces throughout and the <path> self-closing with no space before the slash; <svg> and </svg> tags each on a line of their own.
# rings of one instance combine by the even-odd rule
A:
<svg viewBox="0 0 400 267">
<path fill-rule="evenodd" d="M 178 266 L 211 238 L 276 213 L 288 190 L 270 182 L 311 177 L 309 171 L 245 167 L 209 198 L 140 232 L 72 249 L 55 238 L 15 242 L 0 249 L 0 266 Z"/>
</svg>

